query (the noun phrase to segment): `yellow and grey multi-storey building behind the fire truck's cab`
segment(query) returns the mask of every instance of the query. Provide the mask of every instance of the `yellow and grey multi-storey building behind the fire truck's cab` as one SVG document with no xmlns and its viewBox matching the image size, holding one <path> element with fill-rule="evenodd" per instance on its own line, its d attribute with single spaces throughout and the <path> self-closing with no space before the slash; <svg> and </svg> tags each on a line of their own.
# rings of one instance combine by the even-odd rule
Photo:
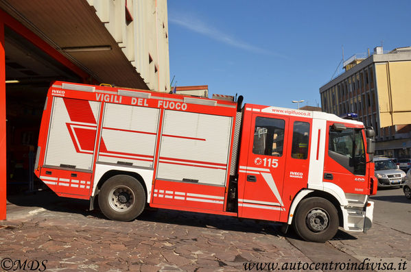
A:
<svg viewBox="0 0 411 272">
<path fill-rule="evenodd" d="M 320 87 L 324 112 L 358 120 L 376 133 L 376 153 L 411 157 L 411 47 L 356 54 L 344 62 L 344 73 Z"/>
</svg>

